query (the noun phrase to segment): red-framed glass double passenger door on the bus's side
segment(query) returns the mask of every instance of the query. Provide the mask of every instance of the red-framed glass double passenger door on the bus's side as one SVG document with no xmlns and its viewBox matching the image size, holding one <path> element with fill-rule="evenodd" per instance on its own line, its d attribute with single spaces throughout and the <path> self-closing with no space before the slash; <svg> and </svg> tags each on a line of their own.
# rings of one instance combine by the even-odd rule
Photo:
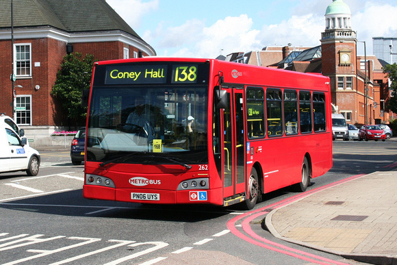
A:
<svg viewBox="0 0 397 265">
<path fill-rule="evenodd" d="M 223 131 L 223 198 L 240 198 L 246 191 L 244 171 L 244 90 L 227 88 L 228 106 L 222 111 Z M 227 204 L 228 205 L 228 204 Z"/>
</svg>

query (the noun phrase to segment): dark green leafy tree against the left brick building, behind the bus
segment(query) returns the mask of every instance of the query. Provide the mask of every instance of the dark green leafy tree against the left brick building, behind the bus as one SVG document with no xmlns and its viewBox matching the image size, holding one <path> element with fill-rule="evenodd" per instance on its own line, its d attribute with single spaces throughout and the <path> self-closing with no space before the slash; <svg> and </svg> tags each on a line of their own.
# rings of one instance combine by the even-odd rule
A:
<svg viewBox="0 0 397 265">
<path fill-rule="evenodd" d="M 81 105 L 81 93 L 90 89 L 94 55 L 71 53 L 64 56 L 51 95 L 62 105 L 68 125 L 84 125 L 87 107 Z"/>
</svg>

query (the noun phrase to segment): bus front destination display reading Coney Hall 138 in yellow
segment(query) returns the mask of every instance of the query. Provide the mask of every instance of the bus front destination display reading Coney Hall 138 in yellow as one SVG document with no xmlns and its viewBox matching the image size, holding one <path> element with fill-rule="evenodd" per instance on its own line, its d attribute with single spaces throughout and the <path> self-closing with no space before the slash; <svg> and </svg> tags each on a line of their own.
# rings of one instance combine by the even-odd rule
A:
<svg viewBox="0 0 397 265">
<path fill-rule="evenodd" d="M 113 65 L 106 66 L 105 84 L 166 84 L 168 65 Z M 195 84 L 198 65 L 172 65 L 172 84 Z"/>
</svg>

